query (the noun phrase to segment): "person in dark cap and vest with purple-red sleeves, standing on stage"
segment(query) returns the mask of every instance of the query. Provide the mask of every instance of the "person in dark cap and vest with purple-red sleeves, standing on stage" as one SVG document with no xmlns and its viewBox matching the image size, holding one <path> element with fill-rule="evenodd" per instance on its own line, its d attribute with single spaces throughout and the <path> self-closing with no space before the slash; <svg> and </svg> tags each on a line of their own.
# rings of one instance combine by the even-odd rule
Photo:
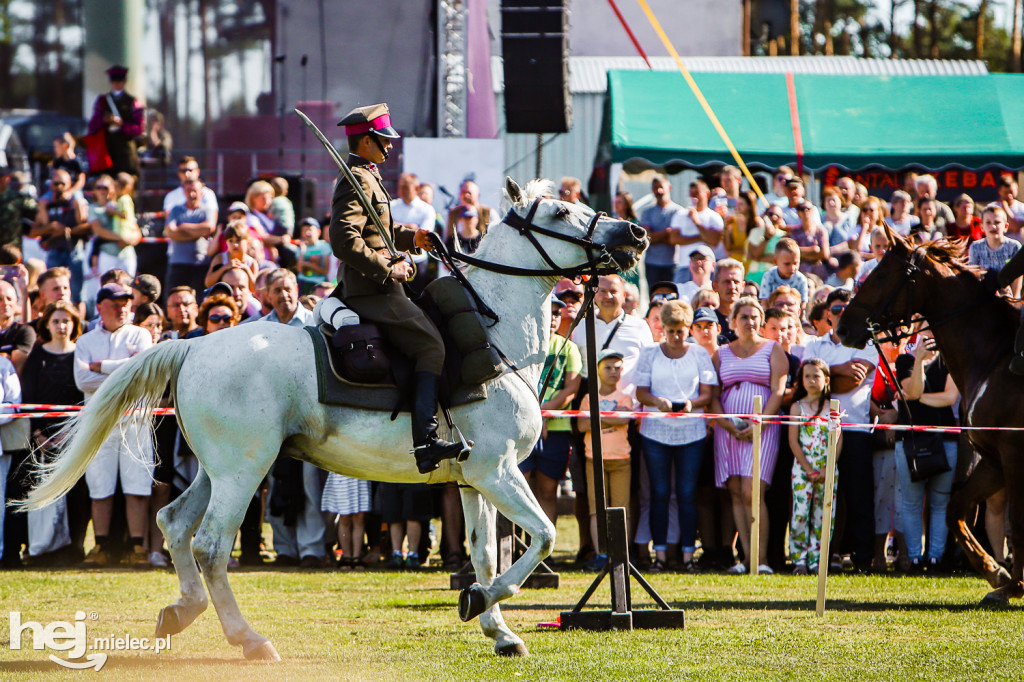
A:
<svg viewBox="0 0 1024 682">
<path fill-rule="evenodd" d="M 110 175 L 131 173 L 138 176 L 138 152 L 135 138 L 145 132 L 145 110 L 135 97 L 125 90 L 128 68 L 114 66 L 106 70 L 111 79 L 111 91 L 96 97 L 89 119 L 89 134 L 106 131 L 106 153 L 111 155 L 112 166 L 105 170 Z M 95 175 L 103 169 L 90 169 Z"/>
</svg>

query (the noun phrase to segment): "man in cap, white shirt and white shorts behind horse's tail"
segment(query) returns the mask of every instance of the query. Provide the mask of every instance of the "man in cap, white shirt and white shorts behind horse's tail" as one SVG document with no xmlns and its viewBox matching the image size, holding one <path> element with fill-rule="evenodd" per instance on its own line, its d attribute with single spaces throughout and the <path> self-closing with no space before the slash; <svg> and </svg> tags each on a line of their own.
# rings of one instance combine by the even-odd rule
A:
<svg viewBox="0 0 1024 682">
<path fill-rule="evenodd" d="M 129 322 L 131 299 L 131 290 L 117 283 L 102 287 L 96 294 L 100 324 L 79 337 L 75 346 L 75 383 L 85 395 L 86 403 L 109 375 L 153 345 L 150 332 Z M 120 477 L 133 546 L 129 562 L 148 565 L 144 536 L 153 469 L 153 439 L 144 419 L 137 415 L 122 418 L 119 428 L 111 432 L 85 471 L 96 537 L 96 546 L 86 557 L 87 564 L 101 566 L 110 561 L 105 546 L 114 513 L 114 491 Z"/>
</svg>

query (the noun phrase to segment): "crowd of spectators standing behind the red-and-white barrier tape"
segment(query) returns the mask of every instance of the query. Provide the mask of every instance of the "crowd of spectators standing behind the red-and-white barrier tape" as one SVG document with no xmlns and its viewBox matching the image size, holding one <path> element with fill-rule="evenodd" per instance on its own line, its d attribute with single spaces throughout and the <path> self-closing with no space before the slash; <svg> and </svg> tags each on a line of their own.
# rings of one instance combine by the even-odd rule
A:
<svg viewBox="0 0 1024 682">
<path fill-rule="evenodd" d="M 84 181 L 65 158 L 38 193 L 20 173 L 0 179 L 3 403 L 80 404 L 117 367 L 168 339 L 241 324 L 310 324 L 337 275 L 328 225 L 296 213 L 283 178 L 257 180 L 244 200 L 228 202 L 201 179 L 196 159 L 182 157 L 177 170 L 179 185 L 163 199 L 158 248 L 166 259 L 148 271 L 139 269 L 150 260 L 139 255 L 132 175 Z M 831 396 L 850 423 L 910 416 L 954 423 L 955 387 L 927 335 L 886 349 L 895 368 L 888 374 L 877 351 L 842 346 L 835 326 L 884 255 L 885 226 L 918 242 L 963 238 L 971 263 L 1000 267 L 1020 249 L 1024 204 L 1016 183 L 1005 178 L 1000 201 L 979 211 L 966 195 L 952 207 L 939 202 L 931 176 L 916 177 L 888 202 L 844 177 L 823 190 L 820 207 L 786 167 L 773 174 L 764 198 L 735 168 L 725 167 L 716 180 L 693 181 L 684 207 L 672 201 L 669 178 L 657 175 L 639 214 L 632 196 L 615 196 L 615 215 L 643 225 L 651 248 L 640 267 L 598 283 L 596 368 L 587 366 L 583 326 L 569 335 L 583 287 L 558 283 L 544 408 L 586 409 L 587 385 L 595 381 L 608 411 L 746 414 L 760 396 L 767 414 L 814 416 Z M 568 177 L 559 198 L 586 201 L 582 183 Z M 432 200 L 430 185 L 403 173 L 395 221 L 437 230 L 451 249 L 472 252 L 500 219 L 471 181 L 446 214 Z M 417 289 L 443 274 L 431 260 L 417 266 Z M 1008 291 L 1019 292 L 1019 282 Z M 911 399 L 910 415 L 895 404 L 897 381 Z M 52 456 L 59 423 L 0 413 L 0 497 L 25 494 L 31 453 Z M 167 565 L 155 514 L 188 485 L 198 463 L 173 419 L 159 422 L 155 438 L 132 419 L 122 427 L 58 505 L 0 516 L 2 567 Z M 765 426 L 759 481 L 752 480 L 753 427 L 742 419 L 605 419 L 593 433 L 601 434 L 608 504 L 628 509 L 641 565 L 736 573 L 816 568 L 824 522 L 819 427 Z M 575 564 L 600 569 L 607 548 L 597 538 L 591 434 L 586 419 L 551 418 L 521 469 L 553 521 L 560 499 L 573 500 Z M 952 474 L 911 481 L 902 438 L 892 431 L 851 426 L 841 443 L 837 549 L 827 560 L 837 569 L 877 571 L 952 565 L 941 522 Z M 950 458 L 956 446 L 947 443 Z M 762 542 L 751 557 L 755 485 Z M 999 560 L 1007 553 L 1002 499 L 987 503 L 984 525 Z M 441 537 L 434 539 L 437 517 Z M 264 538 L 264 520 L 272 541 Z M 94 542 L 86 555 L 90 523 Z M 427 561 L 436 540 L 441 563 L 454 570 L 466 561 L 463 535 L 454 485 L 370 483 L 282 460 L 250 504 L 231 561 L 412 569 Z"/>
</svg>

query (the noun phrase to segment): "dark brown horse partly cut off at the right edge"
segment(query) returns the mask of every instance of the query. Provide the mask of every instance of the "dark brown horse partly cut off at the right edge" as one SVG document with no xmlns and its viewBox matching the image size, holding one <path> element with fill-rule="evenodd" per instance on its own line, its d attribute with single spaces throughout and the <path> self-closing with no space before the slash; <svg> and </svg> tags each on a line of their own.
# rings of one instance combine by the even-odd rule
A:
<svg viewBox="0 0 1024 682">
<path fill-rule="evenodd" d="M 1020 313 L 969 267 L 964 245 L 941 241 L 909 244 L 888 227 L 889 250 L 861 285 L 836 333 L 863 348 L 878 332 L 905 325 L 914 313 L 928 321 L 949 374 L 959 389 L 967 425 L 1024 426 L 1024 380 L 1010 373 Z M 1024 431 L 970 431 L 981 461 L 956 489 L 946 510 L 950 532 L 971 564 L 996 588 L 984 604 L 1024 596 Z M 1013 576 L 989 556 L 968 528 L 978 503 L 1006 486 L 1014 544 Z"/>
</svg>

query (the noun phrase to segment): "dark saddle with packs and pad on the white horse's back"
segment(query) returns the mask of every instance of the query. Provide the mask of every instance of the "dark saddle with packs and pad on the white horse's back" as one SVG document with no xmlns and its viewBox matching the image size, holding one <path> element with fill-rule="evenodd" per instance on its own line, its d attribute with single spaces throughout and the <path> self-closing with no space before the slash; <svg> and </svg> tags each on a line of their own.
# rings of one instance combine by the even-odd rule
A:
<svg viewBox="0 0 1024 682">
<path fill-rule="evenodd" d="M 487 341 L 472 295 L 455 278 L 440 278 L 414 301 L 444 341 L 439 402 L 455 408 L 487 397 L 485 382 L 502 364 Z M 413 361 L 395 350 L 373 323 L 306 327 L 313 342 L 319 401 L 346 408 L 412 411 Z"/>
</svg>

